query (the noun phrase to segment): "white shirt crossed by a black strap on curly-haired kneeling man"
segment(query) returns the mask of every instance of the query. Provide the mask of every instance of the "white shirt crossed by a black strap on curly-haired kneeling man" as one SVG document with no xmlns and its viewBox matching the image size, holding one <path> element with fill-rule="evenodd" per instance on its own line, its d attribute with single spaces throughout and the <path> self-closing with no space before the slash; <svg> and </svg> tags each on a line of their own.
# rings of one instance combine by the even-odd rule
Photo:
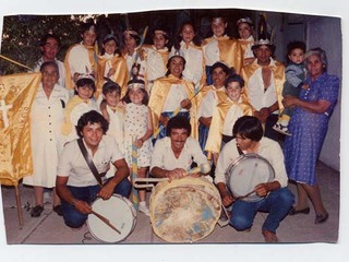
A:
<svg viewBox="0 0 349 262">
<path fill-rule="evenodd" d="M 110 135 L 103 136 L 94 156 L 92 156 L 92 152 L 86 144 L 85 147 L 99 174 L 107 171 L 110 163 L 123 158 L 116 140 Z M 60 155 L 57 175 L 60 177 L 69 177 L 68 186 L 88 187 L 98 184 L 81 153 L 77 140 L 74 140 L 64 146 Z"/>
</svg>

